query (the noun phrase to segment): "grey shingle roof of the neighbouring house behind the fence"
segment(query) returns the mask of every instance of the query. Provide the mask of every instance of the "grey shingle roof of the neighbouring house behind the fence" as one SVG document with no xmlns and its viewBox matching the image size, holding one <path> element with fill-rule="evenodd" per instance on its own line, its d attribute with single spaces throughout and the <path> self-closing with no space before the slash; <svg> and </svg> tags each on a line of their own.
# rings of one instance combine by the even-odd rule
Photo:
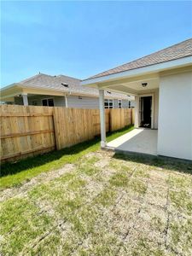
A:
<svg viewBox="0 0 192 256">
<path fill-rule="evenodd" d="M 16 85 L 30 89 L 61 91 L 72 95 L 79 94 L 87 96 L 99 96 L 99 92 L 97 89 L 82 86 L 80 85 L 80 81 L 81 80 L 79 79 L 74 79 L 72 77 L 64 75 L 50 76 L 44 73 L 39 73 L 29 79 L 25 79 L 20 81 L 19 83 L 16 83 Z M 68 87 L 65 87 L 62 84 L 68 84 Z M 2 88 L 2 90 L 6 90 L 6 87 Z M 133 97 L 128 97 L 124 94 L 108 91 L 105 91 L 105 96 L 126 100 L 134 99 Z"/>
</svg>

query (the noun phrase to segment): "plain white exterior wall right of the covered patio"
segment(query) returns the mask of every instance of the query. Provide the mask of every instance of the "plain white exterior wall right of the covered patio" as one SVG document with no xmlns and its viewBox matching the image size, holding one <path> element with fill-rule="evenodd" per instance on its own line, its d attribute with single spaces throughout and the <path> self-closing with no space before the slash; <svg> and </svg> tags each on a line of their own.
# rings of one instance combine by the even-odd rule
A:
<svg viewBox="0 0 192 256">
<path fill-rule="evenodd" d="M 158 154 L 192 160 L 192 73 L 160 77 Z"/>
</svg>

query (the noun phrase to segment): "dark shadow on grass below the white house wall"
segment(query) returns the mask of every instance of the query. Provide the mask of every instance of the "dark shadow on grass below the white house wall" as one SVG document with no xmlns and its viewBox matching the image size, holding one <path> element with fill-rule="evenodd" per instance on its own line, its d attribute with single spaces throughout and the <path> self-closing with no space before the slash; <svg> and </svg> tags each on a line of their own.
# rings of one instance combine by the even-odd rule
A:
<svg viewBox="0 0 192 256">
<path fill-rule="evenodd" d="M 113 155 L 113 158 L 117 160 L 128 160 L 136 163 L 145 164 L 148 166 L 160 167 L 164 170 L 189 173 L 192 175 L 191 162 L 185 160 L 174 160 L 172 158 L 163 158 L 156 156 L 144 156 L 139 154 L 119 154 Z"/>
</svg>

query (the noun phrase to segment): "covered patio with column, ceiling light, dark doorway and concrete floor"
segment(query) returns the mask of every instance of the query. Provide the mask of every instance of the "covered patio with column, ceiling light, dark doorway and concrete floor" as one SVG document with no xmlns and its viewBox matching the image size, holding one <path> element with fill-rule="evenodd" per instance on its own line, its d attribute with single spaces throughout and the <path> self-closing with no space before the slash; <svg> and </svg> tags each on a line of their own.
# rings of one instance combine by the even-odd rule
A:
<svg viewBox="0 0 192 256">
<path fill-rule="evenodd" d="M 115 84 L 115 85 L 114 85 Z M 107 86 L 107 87 L 106 87 Z M 112 83 L 99 84 L 102 148 L 115 151 L 157 155 L 158 117 L 159 117 L 159 77 L 147 75 L 133 79 L 117 79 Z M 135 96 L 135 128 L 114 141 L 106 142 L 104 93 L 103 89 L 120 91 Z M 133 89 L 134 88 L 134 89 Z M 147 102 L 147 101 L 148 102 Z M 147 102 L 147 104 L 145 103 Z M 147 116 L 147 119 L 146 119 Z"/>
</svg>

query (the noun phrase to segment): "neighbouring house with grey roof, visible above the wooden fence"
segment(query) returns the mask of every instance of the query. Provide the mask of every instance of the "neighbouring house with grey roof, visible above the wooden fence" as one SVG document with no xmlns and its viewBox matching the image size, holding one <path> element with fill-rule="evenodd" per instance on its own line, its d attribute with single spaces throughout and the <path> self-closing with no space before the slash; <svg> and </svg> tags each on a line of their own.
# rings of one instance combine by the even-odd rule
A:
<svg viewBox="0 0 192 256">
<path fill-rule="evenodd" d="M 131 108 L 134 97 L 105 91 L 105 108 Z M 1 90 L 1 102 L 17 105 L 99 108 L 99 92 L 80 85 L 79 79 L 39 73 Z"/>
</svg>

